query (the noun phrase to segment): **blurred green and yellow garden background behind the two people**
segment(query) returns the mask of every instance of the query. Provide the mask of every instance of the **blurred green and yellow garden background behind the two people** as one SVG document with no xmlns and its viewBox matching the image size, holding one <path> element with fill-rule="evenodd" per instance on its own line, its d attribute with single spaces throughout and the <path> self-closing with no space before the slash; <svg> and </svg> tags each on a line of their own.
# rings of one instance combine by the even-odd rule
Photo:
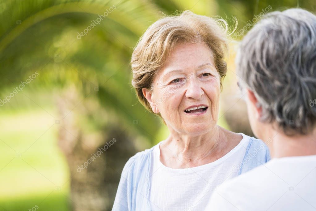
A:
<svg viewBox="0 0 316 211">
<path fill-rule="evenodd" d="M 315 12 L 316 1 L 1 0 L 0 211 L 111 210 L 128 158 L 168 135 L 138 102 L 129 64 L 139 37 L 165 15 L 237 18 L 219 125 L 252 135 L 236 46 L 263 10 L 291 7 Z"/>
</svg>

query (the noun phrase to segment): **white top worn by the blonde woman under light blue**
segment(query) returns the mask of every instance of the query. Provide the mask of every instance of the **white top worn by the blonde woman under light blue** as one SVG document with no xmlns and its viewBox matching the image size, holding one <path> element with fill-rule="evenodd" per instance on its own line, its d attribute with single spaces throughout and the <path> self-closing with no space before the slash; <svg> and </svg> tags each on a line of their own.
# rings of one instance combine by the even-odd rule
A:
<svg viewBox="0 0 316 211">
<path fill-rule="evenodd" d="M 240 143 L 222 158 L 193 168 L 172 169 L 160 161 L 158 143 L 153 149 L 150 170 L 150 197 L 153 211 L 204 210 L 214 189 L 226 179 L 236 177 L 249 144 L 250 136 L 243 136 Z"/>
</svg>

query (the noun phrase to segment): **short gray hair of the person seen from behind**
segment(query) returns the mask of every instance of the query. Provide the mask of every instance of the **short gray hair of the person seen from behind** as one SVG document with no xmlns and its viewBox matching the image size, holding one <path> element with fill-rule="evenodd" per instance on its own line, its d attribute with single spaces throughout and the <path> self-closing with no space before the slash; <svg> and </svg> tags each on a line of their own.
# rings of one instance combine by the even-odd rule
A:
<svg viewBox="0 0 316 211">
<path fill-rule="evenodd" d="M 243 84 L 262 107 L 261 121 L 285 134 L 316 122 L 316 16 L 304 9 L 270 12 L 244 37 L 236 56 Z"/>
</svg>

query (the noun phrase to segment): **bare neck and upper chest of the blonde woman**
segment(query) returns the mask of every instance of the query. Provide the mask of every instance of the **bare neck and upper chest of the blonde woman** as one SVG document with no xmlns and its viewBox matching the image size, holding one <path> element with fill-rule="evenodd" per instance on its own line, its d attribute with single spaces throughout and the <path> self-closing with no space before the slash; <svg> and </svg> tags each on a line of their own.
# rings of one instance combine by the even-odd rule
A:
<svg viewBox="0 0 316 211">
<path fill-rule="evenodd" d="M 238 145 L 241 135 L 235 142 L 228 141 L 232 134 L 219 126 L 199 136 L 172 132 L 160 145 L 160 160 L 165 166 L 174 169 L 208 164 Z"/>
</svg>

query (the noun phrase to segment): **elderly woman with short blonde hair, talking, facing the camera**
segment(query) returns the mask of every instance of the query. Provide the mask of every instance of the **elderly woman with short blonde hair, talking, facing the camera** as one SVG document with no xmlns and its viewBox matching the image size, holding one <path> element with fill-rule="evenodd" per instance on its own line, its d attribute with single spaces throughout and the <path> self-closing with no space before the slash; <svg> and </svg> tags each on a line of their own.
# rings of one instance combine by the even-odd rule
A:
<svg viewBox="0 0 316 211">
<path fill-rule="evenodd" d="M 223 20 L 185 11 L 139 40 L 132 84 L 170 135 L 127 161 L 112 210 L 204 210 L 219 184 L 270 159 L 261 140 L 216 124 L 225 29 Z"/>
</svg>

